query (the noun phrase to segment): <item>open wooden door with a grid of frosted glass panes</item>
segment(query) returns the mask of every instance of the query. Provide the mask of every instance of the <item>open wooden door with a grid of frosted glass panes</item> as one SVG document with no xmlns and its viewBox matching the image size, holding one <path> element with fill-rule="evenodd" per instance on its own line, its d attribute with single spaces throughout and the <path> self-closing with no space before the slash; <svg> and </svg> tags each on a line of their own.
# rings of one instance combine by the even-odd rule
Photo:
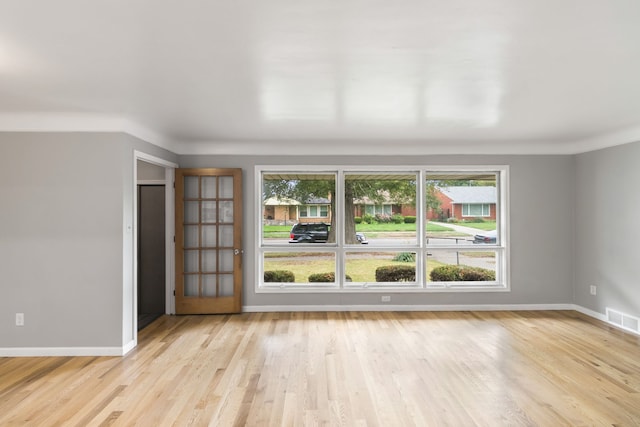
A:
<svg viewBox="0 0 640 427">
<path fill-rule="evenodd" d="M 242 311 L 242 169 L 176 170 L 176 314 Z"/>
</svg>

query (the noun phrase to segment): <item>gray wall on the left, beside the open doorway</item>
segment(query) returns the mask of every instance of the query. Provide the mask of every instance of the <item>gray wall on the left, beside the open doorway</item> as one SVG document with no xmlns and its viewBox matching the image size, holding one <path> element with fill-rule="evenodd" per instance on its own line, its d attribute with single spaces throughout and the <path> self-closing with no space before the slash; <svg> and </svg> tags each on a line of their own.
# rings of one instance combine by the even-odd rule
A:
<svg viewBox="0 0 640 427">
<path fill-rule="evenodd" d="M 0 347 L 133 338 L 134 149 L 176 160 L 123 134 L 0 133 Z"/>
</svg>

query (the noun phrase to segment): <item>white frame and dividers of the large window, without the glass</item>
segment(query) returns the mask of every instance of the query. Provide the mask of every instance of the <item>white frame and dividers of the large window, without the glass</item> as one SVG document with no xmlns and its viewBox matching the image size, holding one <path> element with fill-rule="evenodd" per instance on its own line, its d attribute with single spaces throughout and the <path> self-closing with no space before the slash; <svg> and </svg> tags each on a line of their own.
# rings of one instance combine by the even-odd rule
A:
<svg viewBox="0 0 640 427">
<path fill-rule="evenodd" d="M 269 252 L 291 252 L 292 254 L 301 252 L 330 252 L 335 254 L 335 277 L 344 277 L 346 269 L 346 256 L 354 252 L 371 252 L 371 245 L 347 245 L 344 242 L 344 179 L 345 174 L 350 173 L 377 173 L 386 172 L 388 174 L 416 173 L 416 233 L 417 244 L 376 247 L 377 250 L 386 252 L 416 252 L 416 281 L 415 283 L 350 283 L 346 280 L 335 280 L 334 283 L 297 283 L 297 284 L 265 284 L 263 281 L 265 253 Z M 433 246 L 427 244 L 426 224 L 428 221 L 425 204 L 425 186 L 429 174 L 455 174 L 455 173 L 495 173 L 497 200 L 496 200 L 496 225 L 498 239 L 495 244 L 483 244 L 471 246 L 442 245 Z M 306 244 L 296 243 L 295 246 L 274 244 L 264 241 L 263 218 L 262 218 L 262 194 L 263 175 L 273 173 L 281 174 L 335 174 L 335 195 L 333 201 L 335 206 L 329 207 L 329 212 L 335 215 L 334 226 L 336 227 L 335 243 Z M 419 166 L 305 166 L 291 165 L 256 165 L 255 166 L 255 194 L 258 195 L 255 209 L 255 225 L 257 227 L 258 239 L 256 239 L 255 257 L 255 292 L 256 293 L 368 293 L 368 292 L 409 292 L 409 293 L 431 293 L 431 292 L 510 292 L 510 259 L 509 259 L 509 166 L 508 165 L 419 165 Z M 489 205 L 489 214 L 491 207 Z M 489 216 L 490 216 L 489 215 Z M 477 215 L 474 215 L 477 217 Z M 431 251 L 445 251 L 452 249 L 464 249 L 469 252 L 494 251 L 496 253 L 496 281 L 495 282 L 430 282 L 427 281 L 427 253 Z"/>
</svg>

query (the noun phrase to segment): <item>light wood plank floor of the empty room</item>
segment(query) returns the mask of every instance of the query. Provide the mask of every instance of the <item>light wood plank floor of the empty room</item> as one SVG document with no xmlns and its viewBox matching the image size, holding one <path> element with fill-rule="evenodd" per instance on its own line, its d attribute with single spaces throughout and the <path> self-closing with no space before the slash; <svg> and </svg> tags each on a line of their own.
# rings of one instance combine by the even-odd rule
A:
<svg viewBox="0 0 640 427">
<path fill-rule="evenodd" d="M 638 426 L 640 339 L 575 312 L 165 316 L 0 359 L 0 425 Z"/>
</svg>

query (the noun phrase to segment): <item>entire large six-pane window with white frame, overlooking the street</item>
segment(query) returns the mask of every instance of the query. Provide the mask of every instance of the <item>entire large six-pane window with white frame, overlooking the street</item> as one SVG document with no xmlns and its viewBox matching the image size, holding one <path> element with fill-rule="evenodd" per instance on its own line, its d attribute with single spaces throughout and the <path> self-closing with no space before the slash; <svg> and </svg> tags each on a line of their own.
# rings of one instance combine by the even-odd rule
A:
<svg viewBox="0 0 640 427">
<path fill-rule="evenodd" d="M 305 169 L 256 167 L 257 292 L 509 289 L 507 167 Z"/>
</svg>

